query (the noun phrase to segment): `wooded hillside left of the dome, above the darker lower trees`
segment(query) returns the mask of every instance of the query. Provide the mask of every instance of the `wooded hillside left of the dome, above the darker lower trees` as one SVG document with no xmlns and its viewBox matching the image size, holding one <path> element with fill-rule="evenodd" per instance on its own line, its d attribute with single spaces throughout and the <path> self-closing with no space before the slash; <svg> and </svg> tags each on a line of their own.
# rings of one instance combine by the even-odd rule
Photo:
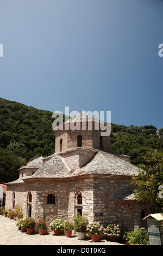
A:
<svg viewBox="0 0 163 256">
<path fill-rule="evenodd" d="M 54 153 L 52 112 L 0 98 L 0 117 L 0 147 L 27 161 Z"/>
</svg>

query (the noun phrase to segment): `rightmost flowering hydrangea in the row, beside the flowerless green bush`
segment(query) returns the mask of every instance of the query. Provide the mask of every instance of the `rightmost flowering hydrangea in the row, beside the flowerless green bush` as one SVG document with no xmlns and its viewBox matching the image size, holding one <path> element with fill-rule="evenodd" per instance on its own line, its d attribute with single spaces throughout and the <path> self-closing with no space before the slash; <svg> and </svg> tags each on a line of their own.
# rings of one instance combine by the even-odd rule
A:
<svg viewBox="0 0 163 256">
<path fill-rule="evenodd" d="M 115 242 L 116 238 L 120 237 L 121 230 L 118 224 L 109 224 L 108 227 L 104 229 L 103 233 L 108 237 L 109 241 Z"/>
</svg>

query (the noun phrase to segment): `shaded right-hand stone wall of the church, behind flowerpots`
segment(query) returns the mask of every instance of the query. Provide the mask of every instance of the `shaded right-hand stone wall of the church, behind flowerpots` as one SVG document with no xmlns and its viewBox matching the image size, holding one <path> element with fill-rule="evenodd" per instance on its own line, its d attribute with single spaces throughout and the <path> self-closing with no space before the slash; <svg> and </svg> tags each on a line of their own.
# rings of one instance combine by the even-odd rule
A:
<svg viewBox="0 0 163 256">
<path fill-rule="evenodd" d="M 119 224 L 120 227 L 130 230 L 143 227 L 141 212 L 145 210 L 148 215 L 150 208 L 145 202 L 137 203 L 136 200 L 116 200 L 117 196 L 131 189 L 129 178 L 111 176 L 95 179 L 93 220 L 99 221 L 104 227 L 108 224 Z M 103 216 L 95 216 L 102 213 Z"/>
</svg>

